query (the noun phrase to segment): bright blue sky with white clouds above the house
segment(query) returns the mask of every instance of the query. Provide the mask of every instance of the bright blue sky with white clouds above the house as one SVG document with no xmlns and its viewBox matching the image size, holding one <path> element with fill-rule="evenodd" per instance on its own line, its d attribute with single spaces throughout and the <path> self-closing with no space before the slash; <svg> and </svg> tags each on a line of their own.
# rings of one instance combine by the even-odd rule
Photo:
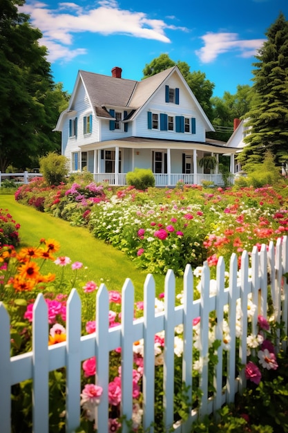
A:
<svg viewBox="0 0 288 433">
<path fill-rule="evenodd" d="M 43 33 L 55 82 L 72 93 L 79 69 L 141 80 L 162 53 L 205 73 L 213 96 L 251 85 L 256 50 L 288 0 L 26 0 L 21 8 Z"/>
</svg>

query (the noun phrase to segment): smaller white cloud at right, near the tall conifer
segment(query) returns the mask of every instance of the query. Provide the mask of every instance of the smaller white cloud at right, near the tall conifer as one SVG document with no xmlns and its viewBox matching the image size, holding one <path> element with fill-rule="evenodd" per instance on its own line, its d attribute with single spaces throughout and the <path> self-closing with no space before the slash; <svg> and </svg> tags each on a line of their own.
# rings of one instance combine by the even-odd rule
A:
<svg viewBox="0 0 288 433">
<path fill-rule="evenodd" d="M 201 62 L 210 63 L 218 55 L 229 51 L 240 52 L 240 57 L 252 57 L 266 39 L 239 39 L 237 33 L 206 33 L 201 37 L 204 46 L 196 50 Z"/>
</svg>

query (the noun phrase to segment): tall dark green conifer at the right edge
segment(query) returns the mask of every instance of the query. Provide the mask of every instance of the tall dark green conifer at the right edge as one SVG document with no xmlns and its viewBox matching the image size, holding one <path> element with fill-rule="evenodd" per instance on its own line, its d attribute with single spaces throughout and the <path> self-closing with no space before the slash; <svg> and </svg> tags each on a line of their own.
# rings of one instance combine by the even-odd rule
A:
<svg viewBox="0 0 288 433">
<path fill-rule="evenodd" d="M 261 163 L 268 150 L 277 165 L 288 161 L 288 21 L 282 13 L 266 35 L 253 63 L 256 99 L 246 116 L 251 133 L 238 157 L 242 165 Z"/>
</svg>

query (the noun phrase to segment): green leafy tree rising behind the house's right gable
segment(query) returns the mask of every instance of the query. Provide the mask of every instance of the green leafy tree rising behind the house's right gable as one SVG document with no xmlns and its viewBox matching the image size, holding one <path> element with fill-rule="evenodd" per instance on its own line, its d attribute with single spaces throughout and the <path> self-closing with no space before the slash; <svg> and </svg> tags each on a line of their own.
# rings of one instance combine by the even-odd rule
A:
<svg viewBox="0 0 288 433">
<path fill-rule="evenodd" d="M 180 72 L 184 76 L 187 84 L 189 85 L 191 91 L 193 91 L 195 97 L 200 103 L 202 109 L 204 109 L 208 118 L 212 116 L 212 107 L 211 107 L 211 96 L 213 95 L 213 89 L 215 84 L 206 79 L 206 75 L 200 71 L 190 72 L 190 66 L 186 62 L 174 62 L 170 59 L 167 54 L 160 54 L 159 57 L 152 60 L 150 64 L 146 64 L 143 69 L 142 80 L 144 78 L 151 77 L 159 72 L 165 71 L 165 69 L 171 68 L 172 66 L 177 65 L 180 69 Z"/>
</svg>

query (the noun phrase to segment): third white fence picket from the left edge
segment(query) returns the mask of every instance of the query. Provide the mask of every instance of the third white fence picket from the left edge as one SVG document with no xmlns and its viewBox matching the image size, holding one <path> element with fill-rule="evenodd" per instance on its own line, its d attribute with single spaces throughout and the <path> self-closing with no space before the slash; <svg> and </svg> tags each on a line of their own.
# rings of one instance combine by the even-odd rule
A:
<svg viewBox="0 0 288 433">
<path fill-rule="evenodd" d="M 80 423 L 81 302 L 75 288 L 67 302 L 66 335 L 66 432 L 70 433 Z"/>
</svg>

